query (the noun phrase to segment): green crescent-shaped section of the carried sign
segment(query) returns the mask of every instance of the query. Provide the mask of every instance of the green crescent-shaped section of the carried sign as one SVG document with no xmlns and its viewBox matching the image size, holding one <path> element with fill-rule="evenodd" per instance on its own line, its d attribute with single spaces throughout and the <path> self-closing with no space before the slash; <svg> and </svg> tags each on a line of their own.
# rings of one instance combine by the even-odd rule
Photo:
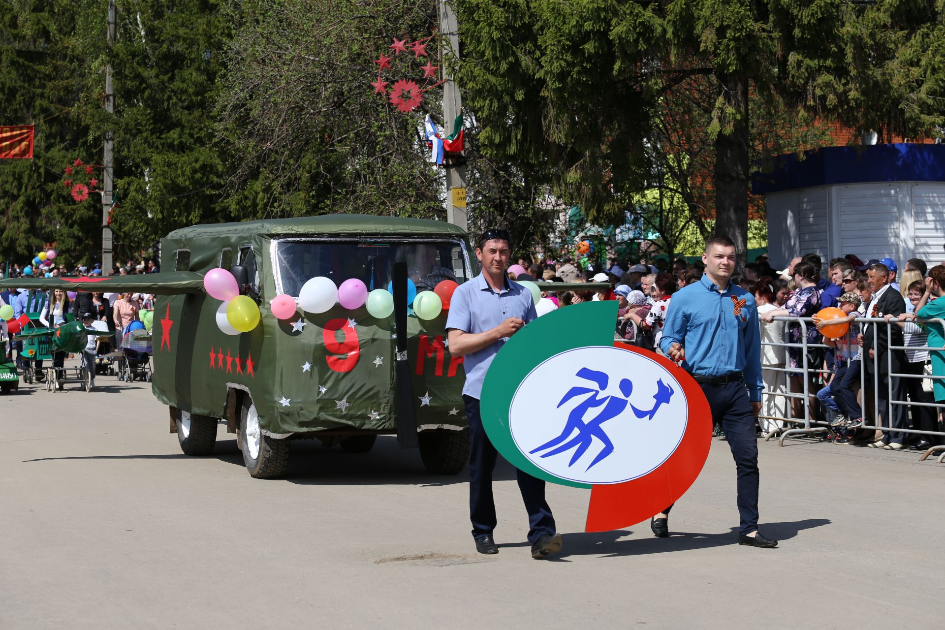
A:
<svg viewBox="0 0 945 630">
<path fill-rule="evenodd" d="M 516 332 L 499 350 L 482 387 L 480 413 L 490 441 L 512 466 L 552 484 L 591 487 L 556 477 L 528 461 L 512 439 L 508 409 L 519 384 L 544 360 L 565 350 L 612 346 L 616 321 L 616 301 L 582 302 L 541 315 Z M 552 398 L 559 395 L 554 386 L 548 391 Z M 548 404 L 553 408 L 556 401 L 549 399 Z M 535 410 L 536 414 L 543 412 Z"/>
</svg>

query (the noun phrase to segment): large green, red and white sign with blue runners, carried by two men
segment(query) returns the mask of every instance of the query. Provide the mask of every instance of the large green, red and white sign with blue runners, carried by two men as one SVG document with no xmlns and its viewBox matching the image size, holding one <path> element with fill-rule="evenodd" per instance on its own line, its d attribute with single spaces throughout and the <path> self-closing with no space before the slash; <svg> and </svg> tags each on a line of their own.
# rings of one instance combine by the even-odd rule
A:
<svg viewBox="0 0 945 630">
<path fill-rule="evenodd" d="M 615 343 L 616 320 L 612 300 L 541 315 L 499 350 L 482 389 L 483 426 L 509 463 L 591 488 L 588 532 L 679 500 L 712 440 L 701 387 L 669 359 Z"/>
</svg>

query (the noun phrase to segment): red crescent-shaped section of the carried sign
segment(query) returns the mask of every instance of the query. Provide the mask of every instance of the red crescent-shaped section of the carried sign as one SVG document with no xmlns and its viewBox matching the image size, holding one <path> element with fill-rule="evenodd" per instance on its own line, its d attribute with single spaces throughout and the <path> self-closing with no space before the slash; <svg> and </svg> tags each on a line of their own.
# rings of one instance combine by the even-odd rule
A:
<svg viewBox="0 0 945 630">
<path fill-rule="evenodd" d="M 696 481 L 712 444 L 712 410 L 693 377 L 666 357 L 619 342 L 614 346 L 645 354 L 669 370 L 682 386 L 689 417 L 682 441 L 662 466 L 624 484 L 591 486 L 586 532 L 610 532 L 634 525 L 677 502 Z"/>
</svg>

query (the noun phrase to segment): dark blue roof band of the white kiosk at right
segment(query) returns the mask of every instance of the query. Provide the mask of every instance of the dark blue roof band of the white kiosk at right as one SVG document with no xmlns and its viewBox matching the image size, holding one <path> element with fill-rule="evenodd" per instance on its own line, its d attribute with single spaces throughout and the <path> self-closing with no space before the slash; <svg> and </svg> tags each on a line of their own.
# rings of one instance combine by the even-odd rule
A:
<svg viewBox="0 0 945 630">
<path fill-rule="evenodd" d="M 751 174 L 751 192 L 870 181 L 945 181 L 945 145 L 825 146 L 775 158 L 772 173 Z"/>
</svg>

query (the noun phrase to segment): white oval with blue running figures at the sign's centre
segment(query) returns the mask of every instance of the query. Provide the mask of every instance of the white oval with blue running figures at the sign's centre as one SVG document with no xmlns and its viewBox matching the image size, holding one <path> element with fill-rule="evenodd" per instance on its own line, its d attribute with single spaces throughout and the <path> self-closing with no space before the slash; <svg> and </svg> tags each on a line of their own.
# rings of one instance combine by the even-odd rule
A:
<svg viewBox="0 0 945 630">
<path fill-rule="evenodd" d="M 622 484 L 676 451 L 688 414 L 682 386 L 657 361 L 589 346 L 529 372 L 508 424 L 519 451 L 542 470 L 583 484 Z"/>
</svg>

